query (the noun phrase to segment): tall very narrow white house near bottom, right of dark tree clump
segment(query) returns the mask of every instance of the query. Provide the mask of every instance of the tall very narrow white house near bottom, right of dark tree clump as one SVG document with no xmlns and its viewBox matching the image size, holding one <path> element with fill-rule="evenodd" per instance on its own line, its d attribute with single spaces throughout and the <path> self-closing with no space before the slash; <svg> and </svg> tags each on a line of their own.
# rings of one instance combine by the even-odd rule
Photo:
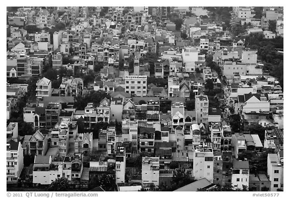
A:
<svg viewBox="0 0 290 198">
<path fill-rule="evenodd" d="M 126 171 L 126 147 L 118 145 L 116 147 L 116 184 L 125 183 Z"/>
</svg>

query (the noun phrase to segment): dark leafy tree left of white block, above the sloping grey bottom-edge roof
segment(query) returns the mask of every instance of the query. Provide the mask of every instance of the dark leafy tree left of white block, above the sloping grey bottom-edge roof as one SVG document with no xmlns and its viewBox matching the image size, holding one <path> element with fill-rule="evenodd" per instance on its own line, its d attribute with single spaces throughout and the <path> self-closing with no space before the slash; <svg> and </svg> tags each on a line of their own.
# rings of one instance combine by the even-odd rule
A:
<svg viewBox="0 0 290 198">
<path fill-rule="evenodd" d="M 191 171 L 186 169 L 176 169 L 173 171 L 171 183 L 180 188 L 191 182 Z"/>
</svg>

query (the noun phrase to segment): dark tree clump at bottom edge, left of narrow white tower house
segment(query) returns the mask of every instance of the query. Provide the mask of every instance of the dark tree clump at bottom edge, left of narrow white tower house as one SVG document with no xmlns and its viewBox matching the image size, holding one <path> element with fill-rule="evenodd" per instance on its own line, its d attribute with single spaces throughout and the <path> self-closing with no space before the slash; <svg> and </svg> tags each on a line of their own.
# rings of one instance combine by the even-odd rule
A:
<svg viewBox="0 0 290 198">
<path fill-rule="evenodd" d="M 101 174 L 97 177 L 92 177 L 89 181 L 89 188 L 101 186 L 105 191 L 114 191 L 116 183 L 114 176 L 111 174 Z"/>
</svg>

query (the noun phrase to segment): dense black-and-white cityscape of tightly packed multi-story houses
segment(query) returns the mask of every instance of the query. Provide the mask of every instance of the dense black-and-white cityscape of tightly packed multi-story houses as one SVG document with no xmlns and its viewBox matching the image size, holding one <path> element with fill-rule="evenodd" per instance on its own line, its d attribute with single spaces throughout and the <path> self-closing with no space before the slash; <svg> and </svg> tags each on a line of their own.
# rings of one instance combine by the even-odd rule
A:
<svg viewBox="0 0 290 198">
<path fill-rule="evenodd" d="M 7 191 L 283 191 L 283 7 L 7 7 Z"/>
</svg>

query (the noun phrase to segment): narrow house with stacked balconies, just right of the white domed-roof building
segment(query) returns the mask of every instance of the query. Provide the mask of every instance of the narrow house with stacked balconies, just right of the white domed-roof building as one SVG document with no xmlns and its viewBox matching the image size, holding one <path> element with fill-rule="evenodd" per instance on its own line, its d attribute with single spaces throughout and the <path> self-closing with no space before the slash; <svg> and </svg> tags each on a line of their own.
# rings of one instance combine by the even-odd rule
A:
<svg viewBox="0 0 290 198">
<path fill-rule="evenodd" d="M 209 124 L 210 140 L 214 151 L 221 151 L 222 134 L 224 133 L 222 124 L 211 122 Z"/>
</svg>

